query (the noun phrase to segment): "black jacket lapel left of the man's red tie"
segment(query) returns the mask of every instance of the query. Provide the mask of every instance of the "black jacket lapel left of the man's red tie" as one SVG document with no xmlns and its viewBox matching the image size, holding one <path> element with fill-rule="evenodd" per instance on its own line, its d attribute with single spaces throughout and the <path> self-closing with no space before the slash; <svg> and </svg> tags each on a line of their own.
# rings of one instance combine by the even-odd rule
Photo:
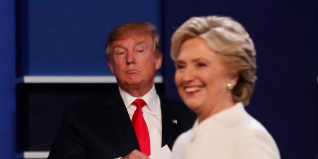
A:
<svg viewBox="0 0 318 159">
<path fill-rule="evenodd" d="M 105 104 L 107 107 L 107 116 L 117 134 L 119 142 L 121 142 L 124 154 L 130 153 L 134 149 L 139 149 L 134 128 L 118 88 L 111 92 Z"/>
</svg>

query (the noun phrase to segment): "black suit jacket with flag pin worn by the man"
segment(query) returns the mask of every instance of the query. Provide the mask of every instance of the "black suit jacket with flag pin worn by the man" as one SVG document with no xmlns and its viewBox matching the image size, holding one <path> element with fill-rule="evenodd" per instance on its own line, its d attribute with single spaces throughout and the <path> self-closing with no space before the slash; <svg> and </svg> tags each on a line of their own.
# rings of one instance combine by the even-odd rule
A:
<svg viewBox="0 0 318 159">
<path fill-rule="evenodd" d="M 184 104 L 160 96 L 162 146 L 191 128 L 195 115 Z M 175 122 L 173 122 L 173 120 Z M 176 123 L 177 121 L 177 123 Z M 118 88 L 66 107 L 48 158 L 116 158 L 138 149 L 138 141 Z"/>
</svg>

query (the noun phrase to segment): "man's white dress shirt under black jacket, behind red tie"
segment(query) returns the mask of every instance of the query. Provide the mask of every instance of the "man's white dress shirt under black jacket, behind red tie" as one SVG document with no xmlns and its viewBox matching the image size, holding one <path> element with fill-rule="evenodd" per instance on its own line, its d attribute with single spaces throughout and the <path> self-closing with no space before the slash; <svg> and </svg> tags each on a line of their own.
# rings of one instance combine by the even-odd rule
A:
<svg viewBox="0 0 318 159">
<path fill-rule="evenodd" d="M 120 95 L 126 105 L 130 120 L 132 119 L 135 110 L 135 105 L 131 104 L 137 97 L 130 95 L 119 87 Z M 142 115 L 146 121 L 149 137 L 150 137 L 150 153 L 156 152 L 161 148 L 162 142 L 162 119 L 160 98 L 155 91 L 154 85 L 151 90 L 141 97 L 146 102 L 146 106 L 142 108 Z"/>
</svg>

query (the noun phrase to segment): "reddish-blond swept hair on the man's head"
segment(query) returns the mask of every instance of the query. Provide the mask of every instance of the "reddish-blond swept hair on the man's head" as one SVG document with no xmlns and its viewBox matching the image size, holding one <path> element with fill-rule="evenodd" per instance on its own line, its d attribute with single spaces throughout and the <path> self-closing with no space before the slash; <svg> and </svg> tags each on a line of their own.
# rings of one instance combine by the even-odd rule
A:
<svg viewBox="0 0 318 159">
<path fill-rule="evenodd" d="M 129 36 L 129 33 L 140 33 L 149 35 L 154 41 L 154 52 L 156 56 L 162 56 L 162 52 L 159 45 L 159 35 L 156 28 L 151 23 L 146 22 L 128 22 L 123 23 L 115 27 L 108 36 L 106 42 L 106 59 L 110 61 L 112 44 L 114 41 Z"/>
</svg>

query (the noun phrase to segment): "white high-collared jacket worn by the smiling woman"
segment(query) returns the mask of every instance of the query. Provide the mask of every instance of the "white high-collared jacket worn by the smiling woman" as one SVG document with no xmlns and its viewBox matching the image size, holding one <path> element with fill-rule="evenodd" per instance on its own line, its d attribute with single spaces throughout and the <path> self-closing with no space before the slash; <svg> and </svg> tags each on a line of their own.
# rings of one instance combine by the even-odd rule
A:
<svg viewBox="0 0 318 159">
<path fill-rule="evenodd" d="M 244 109 L 241 102 L 181 134 L 173 146 L 174 159 L 280 158 L 271 134 Z"/>
</svg>

